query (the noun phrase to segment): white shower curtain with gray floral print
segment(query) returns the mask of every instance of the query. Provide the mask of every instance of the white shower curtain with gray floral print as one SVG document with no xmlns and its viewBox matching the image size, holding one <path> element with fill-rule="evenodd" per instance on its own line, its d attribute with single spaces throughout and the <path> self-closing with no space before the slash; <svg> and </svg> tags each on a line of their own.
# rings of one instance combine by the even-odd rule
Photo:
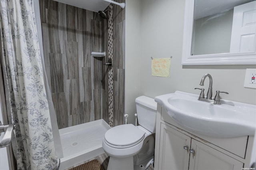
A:
<svg viewBox="0 0 256 170">
<path fill-rule="evenodd" d="M 33 0 L 0 0 L 1 65 L 17 169 L 57 169 Z"/>
</svg>

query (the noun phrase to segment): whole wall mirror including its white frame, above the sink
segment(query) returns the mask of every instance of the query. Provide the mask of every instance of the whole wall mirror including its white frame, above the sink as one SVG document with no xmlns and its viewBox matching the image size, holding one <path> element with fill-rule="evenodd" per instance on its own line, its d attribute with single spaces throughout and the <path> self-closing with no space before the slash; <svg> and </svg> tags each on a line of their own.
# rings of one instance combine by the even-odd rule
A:
<svg viewBox="0 0 256 170">
<path fill-rule="evenodd" d="M 256 0 L 185 0 L 182 65 L 254 64 Z"/>
</svg>

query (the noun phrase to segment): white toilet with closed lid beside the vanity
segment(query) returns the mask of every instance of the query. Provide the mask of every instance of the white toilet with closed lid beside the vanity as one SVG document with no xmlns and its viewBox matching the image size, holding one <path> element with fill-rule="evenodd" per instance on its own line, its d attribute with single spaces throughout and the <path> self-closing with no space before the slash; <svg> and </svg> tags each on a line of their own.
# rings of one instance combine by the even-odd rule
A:
<svg viewBox="0 0 256 170">
<path fill-rule="evenodd" d="M 102 148 L 110 156 L 108 170 L 145 170 L 154 161 L 156 102 L 146 96 L 136 98 L 138 123 L 109 129 Z"/>
</svg>

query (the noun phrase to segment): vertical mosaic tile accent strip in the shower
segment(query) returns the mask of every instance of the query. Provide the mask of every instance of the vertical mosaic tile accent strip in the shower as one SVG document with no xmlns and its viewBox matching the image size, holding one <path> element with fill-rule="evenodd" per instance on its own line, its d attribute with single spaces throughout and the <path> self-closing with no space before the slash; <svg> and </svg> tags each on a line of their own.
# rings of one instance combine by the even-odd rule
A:
<svg viewBox="0 0 256 170">
<path fill-rule="evenodd" d="M 113 58 L 113 6 L 109 5 L 109 16 L 108 16 L 108 58 Z M 113 123 L 113 69 L 108 70 L 108 113 L 109 113 L 109 125 L 110 127 L 114 126 Z"/>
</svg>

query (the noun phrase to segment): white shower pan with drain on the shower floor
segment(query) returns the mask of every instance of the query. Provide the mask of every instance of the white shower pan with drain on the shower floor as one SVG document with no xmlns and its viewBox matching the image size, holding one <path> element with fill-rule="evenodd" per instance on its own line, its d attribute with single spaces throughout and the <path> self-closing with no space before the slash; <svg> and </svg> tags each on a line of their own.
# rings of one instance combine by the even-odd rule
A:
<svg viewBox="0 0 256 170">
<path fill-rule="evenodd" d="M 103 120 L 60 129 L 64 157 L 60 159 L 60 170 L 80 164 L 104 154 L 102 140 L 111 127 Z"/>
</svg>

